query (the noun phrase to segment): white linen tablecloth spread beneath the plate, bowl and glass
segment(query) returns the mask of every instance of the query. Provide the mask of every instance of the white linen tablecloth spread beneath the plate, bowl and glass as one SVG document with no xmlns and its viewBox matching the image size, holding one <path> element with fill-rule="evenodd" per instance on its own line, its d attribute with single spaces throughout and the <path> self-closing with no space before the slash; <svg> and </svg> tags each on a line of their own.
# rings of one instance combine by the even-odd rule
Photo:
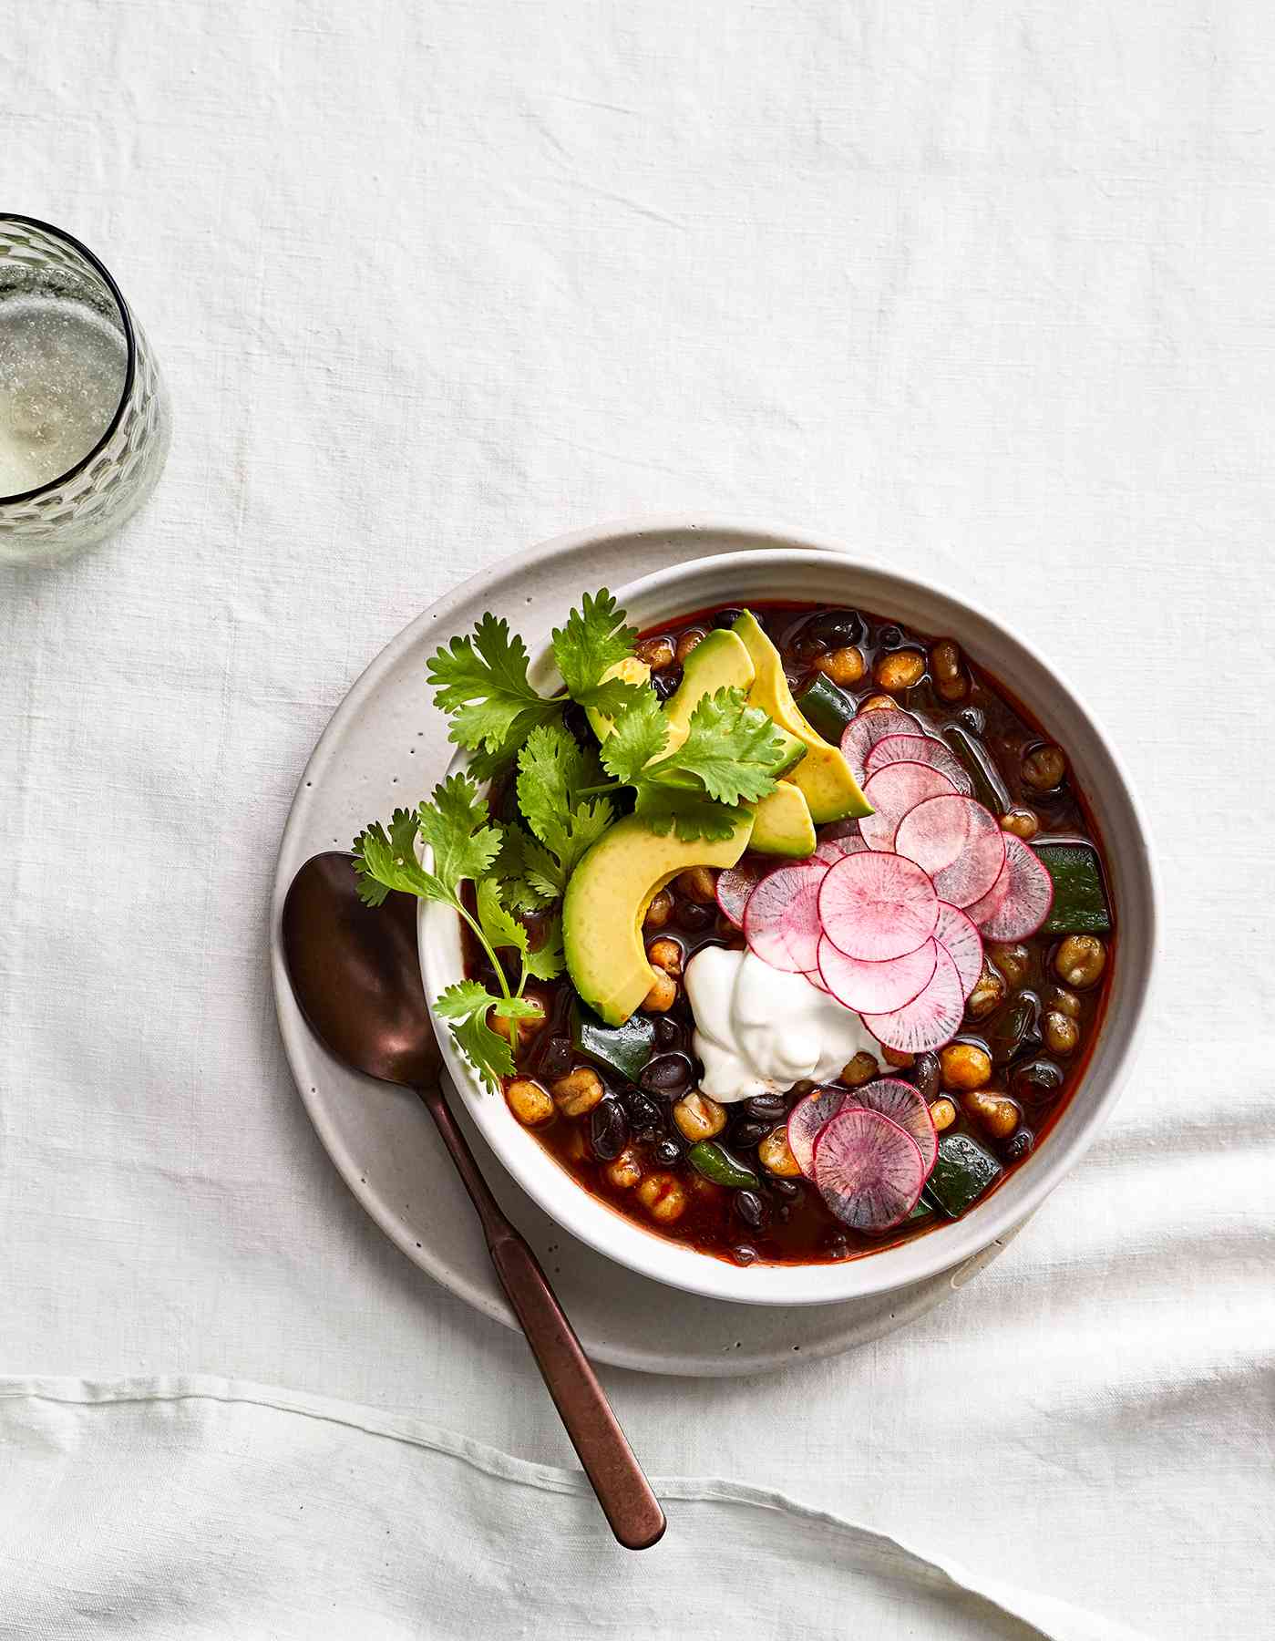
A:
<svg viewBox="0 0 1275 1641">
<path fill-rule="evenodd" d="M 1044 1633 L 1272 1633 L 1273 57 L 1239 0 L 11 10 L 8 205 L 118 276 L 176 440 L 120 540 L 0 569 L 0 1370 L 75 1382 L 5 1385 L 0 1630 L 451 1633 L 412 1547 L 482 1521 L 430 1566 L 492 1636 L 573 1634 L 617 1579 L 633 1633 L 779 1633 L 702 1600 L 745 1562 L 794 1630 L 817 1588 L 809 1633 L 999 1633 L 904 1574 L 886 1626 L 858 1549 L 835 1579 L 752 1505 L 671 1510 L 619 1574 L 558 1503 L 523 1574 L 520 1465 L 578 1503 L 525 1347 L 376 1232 L 282 1060 L 271 871 L 351 679 L 476 566 L 692 509 L 889 553 L 1058 656 L 1167 929 L 1134 1085 L 986 1275 L 783 1377 L 607 1374 L 638 1451 Z M 174 1428 L 162 1375 L 200 1374 L 453 1434 L 387 1479 L 251 1398 Z M 459 1488 L 448 1442 L 510 1457 Z"/>
</svg>

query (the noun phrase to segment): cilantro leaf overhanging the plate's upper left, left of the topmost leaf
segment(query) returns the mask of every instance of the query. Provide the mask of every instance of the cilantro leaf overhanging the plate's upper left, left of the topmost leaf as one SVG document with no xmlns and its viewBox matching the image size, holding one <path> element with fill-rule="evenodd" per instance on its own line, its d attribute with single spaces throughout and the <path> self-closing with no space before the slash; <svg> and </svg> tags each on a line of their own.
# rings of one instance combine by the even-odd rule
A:
<svg viewBox="0 0 1275 1641">
<path fill-rule="evenodd" d="M 517 743 L 533 724 L 561 711 L 527 681 L 527 647 L 509 622 L 487 610 L 473 637 L 453 638 L 428 665 L 435 701 L 451 715 L 450 738 L 489 753 Z"/>
</svg>

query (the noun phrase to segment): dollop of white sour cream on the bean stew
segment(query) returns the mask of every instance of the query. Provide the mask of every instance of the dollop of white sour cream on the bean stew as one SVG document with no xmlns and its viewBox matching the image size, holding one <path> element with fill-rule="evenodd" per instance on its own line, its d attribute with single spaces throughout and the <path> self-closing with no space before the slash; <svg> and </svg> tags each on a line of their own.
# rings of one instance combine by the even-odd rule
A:
<svg viewBox="0 0 1275 1641">
<path fill-rule="evenodd" d="M 853 1009 L 804 975 L 784 975 L 753 952 L 707 945 L 686 965 L 704 1062 L 701 1090 L 719 1104 L 827 1081 L 860 1050 L 881 1044 Z"/>
</svg>

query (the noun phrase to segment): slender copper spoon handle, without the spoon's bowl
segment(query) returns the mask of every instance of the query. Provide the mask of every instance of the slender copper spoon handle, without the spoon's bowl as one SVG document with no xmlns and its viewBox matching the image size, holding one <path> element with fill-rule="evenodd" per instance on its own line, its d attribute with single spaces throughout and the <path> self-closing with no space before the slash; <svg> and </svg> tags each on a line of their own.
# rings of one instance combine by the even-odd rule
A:
<svg viewBox="0 0 1275 1641">
<path fill-rule="evenodd" d="M 663 1536 L 665 1511 L 610 1410 L 607 1395 L 576 1337 L 576 1329 L 566 1319 L 535 1254 L 492 1196 L 469 1142 L 456 1127 L 443 1091 L 418 1088 L 417 1093 L 438 1124 L 443 1144 L 478 1209 L 496 1273 L 522 1324 L 584 1474 L 597 1493 L 610 1531 L 625 1549 L 648 1549 Z"/>
</svg>

